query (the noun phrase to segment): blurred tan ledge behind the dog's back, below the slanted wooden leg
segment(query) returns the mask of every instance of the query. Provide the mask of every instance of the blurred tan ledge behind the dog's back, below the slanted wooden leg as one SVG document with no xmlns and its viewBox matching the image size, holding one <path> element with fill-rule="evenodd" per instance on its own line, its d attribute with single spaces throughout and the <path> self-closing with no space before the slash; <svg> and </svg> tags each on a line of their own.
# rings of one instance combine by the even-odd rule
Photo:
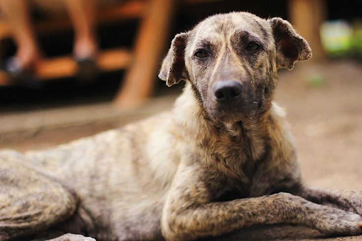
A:
<svg viewBox="0 0 362 241">
<path fill-rule="evenodd" d="M 153 98 L 134 110 L 120 110 L 112 103 L 100 103 L 0 114 L 0 149 L 24 150 L 25 142 L 26 146 L 42 142 L 47 147 L 89 136 L 170 109 L 175 98 L 175 95 Z"/>
</svg>

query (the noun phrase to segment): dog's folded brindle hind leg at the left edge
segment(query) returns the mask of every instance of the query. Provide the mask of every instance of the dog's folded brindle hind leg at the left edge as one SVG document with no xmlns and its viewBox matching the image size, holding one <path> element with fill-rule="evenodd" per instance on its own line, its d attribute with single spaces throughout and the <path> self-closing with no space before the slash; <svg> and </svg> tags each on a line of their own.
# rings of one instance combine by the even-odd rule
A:
<svg viewBox="0 0 362 241">
<path fill-rule="evenodd" d="M 70 217 L 77 196 L 30 166 L 16 151 L 0 152 L 0 241 L 37 234 Z"/>
</svg>

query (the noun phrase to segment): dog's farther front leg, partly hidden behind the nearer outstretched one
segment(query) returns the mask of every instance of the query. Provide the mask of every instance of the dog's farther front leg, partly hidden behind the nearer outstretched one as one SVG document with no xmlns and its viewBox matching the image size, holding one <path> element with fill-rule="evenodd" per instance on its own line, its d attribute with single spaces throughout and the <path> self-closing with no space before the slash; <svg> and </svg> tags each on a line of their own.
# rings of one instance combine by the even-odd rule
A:
<svg viewBox="0 0 362 241">
<path fill-rule="evenodd" d="M 334 191 L 302 185 L 291 193 L 314 203 L 362 215 L 362 190 Z"/>
</svg>

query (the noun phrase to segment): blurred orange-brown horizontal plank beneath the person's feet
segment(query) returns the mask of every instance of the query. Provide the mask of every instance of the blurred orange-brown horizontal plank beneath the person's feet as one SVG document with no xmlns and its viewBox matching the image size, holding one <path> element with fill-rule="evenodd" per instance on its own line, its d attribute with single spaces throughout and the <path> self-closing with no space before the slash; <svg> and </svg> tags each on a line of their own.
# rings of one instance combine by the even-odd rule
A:
<svg viewBox="0 0 362 241">
<path fill-rule="evenodd" d="M 111 49 L 99 53 L 97 64 L 100 71 L 125 69 L 131 62 L 131 52 L 125 49 Z M 34 71 L 37 81 L 75 76 L 77 62 L 71 56 L 62 56 L 40 61 Z M 0 86 L 10 85 L 7 75 L 0 71 Z"/>
</svg>

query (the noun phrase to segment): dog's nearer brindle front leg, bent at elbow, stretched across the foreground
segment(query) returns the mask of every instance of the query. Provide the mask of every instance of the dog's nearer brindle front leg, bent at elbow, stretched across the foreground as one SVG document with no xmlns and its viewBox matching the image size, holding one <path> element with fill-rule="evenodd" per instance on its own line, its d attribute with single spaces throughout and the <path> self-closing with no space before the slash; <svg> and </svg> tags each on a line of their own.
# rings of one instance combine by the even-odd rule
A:
<svg viewBox="0 0 362 241">
<path fill-rule="evenodd" d="M 194 240 L 275 223 L 305 225 L 327 234 L 362 233 L 359 227 L 362 218 L 352 212 L 319 205 L 290 193 L 213 202 L 214 195 L 222 189 L 218 176 L 208 176 L 201 167 L 181 164 L 163 210 L 161 229 L 165 239 Z"/>
</svg>

